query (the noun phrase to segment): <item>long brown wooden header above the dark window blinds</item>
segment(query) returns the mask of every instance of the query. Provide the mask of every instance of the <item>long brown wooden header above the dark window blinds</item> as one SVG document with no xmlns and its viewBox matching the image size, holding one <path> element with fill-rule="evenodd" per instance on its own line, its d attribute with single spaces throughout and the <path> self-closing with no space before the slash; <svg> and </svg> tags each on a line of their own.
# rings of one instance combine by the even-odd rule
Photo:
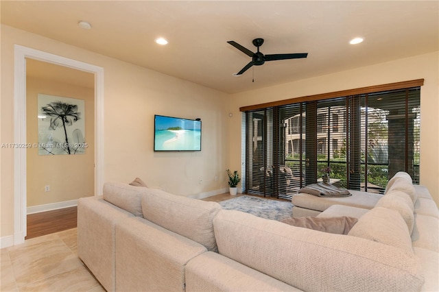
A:
<svg viewBox="0 0 439 292">
<path fill-rule="evenodd" d="M 423 86 L 423 85 L 424 85 L 424 80 L 417 79 L 417 80 L 395 82 L 395 83 L 389 83 L 389 84 L 381 84 L 381 85 L 375 85 L 375 86 L 367 86 L 367 87 L 361 87 L 361 88 L 355 88 L 355 89 L 335 91 L 333 93 L 320 93 L 318 95 L 307 95 L 305 97 L 296 97 L 296 98 L 292 98 L 292 99 L 271 101 L 271 102 L 268 102 L 265 104 L 255 104 L 253 106 L 242 106 L 241 108 L 239 108 L 239 110 L 241 112 L 246 112 L 248 110 L 260 110 L 262 108 L 272 108 L 274 106 L 285 106 L 287 104 L 296 104 L 298 102 L 303 102 L 303 101 L 316 101 L 316 100 L 321 100 L 321 99 L 346 97 L 346 96 L 351 96 L 351 95 L 362 95 L 362 94 L 366 94 L 366 93 L 379 93 L 381 91 L 386 91 L 386 90 L 411 88 L 411 87 Z"/>
</svg>

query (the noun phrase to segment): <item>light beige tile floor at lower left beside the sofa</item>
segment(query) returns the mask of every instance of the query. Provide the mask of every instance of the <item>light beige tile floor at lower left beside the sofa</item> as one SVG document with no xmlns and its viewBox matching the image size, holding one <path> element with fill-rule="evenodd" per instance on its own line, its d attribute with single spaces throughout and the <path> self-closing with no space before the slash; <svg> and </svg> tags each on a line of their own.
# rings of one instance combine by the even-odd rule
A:
<svg viewBox="0 0 439 292">
<path fill-rule="evenodd" d="M 78 258 L 77 229 L 0 250 L 0 291 L 105 291 Z"/>
</svg>

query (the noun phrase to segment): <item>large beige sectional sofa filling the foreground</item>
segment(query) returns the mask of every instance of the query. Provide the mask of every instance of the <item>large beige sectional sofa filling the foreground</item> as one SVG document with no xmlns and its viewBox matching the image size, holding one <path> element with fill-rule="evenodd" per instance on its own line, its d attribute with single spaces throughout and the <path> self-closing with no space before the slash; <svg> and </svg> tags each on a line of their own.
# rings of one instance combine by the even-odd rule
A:
<svg viewBox="0 0 439 292">
<path fill-rule="evenodd" d="M 438 209 L 406 195 L 332 204 L 318 217 L 358 218 L 343 235 L 108 182 L 79 200 L 78 254 L 107 291 L 438 291 Z"/>
</svg>

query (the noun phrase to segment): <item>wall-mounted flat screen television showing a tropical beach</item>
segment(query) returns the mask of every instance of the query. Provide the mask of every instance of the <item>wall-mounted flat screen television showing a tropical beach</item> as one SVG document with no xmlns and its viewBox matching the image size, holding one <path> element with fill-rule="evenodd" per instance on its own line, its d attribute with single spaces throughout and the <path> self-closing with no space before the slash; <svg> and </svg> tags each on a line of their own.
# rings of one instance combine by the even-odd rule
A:
<svg viewBox="0 0 439 292">
<path fill-rule="evenodd" d="M 154 115 L 154 151 L 201 151 L 201 120 Z"/>
</svg>

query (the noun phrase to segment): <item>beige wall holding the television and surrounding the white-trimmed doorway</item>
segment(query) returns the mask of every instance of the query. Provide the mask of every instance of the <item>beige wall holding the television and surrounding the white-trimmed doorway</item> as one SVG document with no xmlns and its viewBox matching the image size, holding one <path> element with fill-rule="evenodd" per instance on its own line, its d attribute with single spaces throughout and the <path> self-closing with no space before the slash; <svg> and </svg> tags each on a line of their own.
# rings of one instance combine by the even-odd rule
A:
<svg viewBox="0 0 439 292">
<path fill-rule="evenodd" d="M 14 142 L 14 44 L 104 68 L 104 147 L 98 149 L 104 153 L 104 181 L 138 176 L 179 195 L 226 188 L 229 95 L 6 25 L 1 25 L 1 143 Z M 202 119 L 202 151 L 154 152 L 154 114 Z M 10 236 L 13 149 L 2 148 L 0 158 L 0 236 Z"/>
</svg>

